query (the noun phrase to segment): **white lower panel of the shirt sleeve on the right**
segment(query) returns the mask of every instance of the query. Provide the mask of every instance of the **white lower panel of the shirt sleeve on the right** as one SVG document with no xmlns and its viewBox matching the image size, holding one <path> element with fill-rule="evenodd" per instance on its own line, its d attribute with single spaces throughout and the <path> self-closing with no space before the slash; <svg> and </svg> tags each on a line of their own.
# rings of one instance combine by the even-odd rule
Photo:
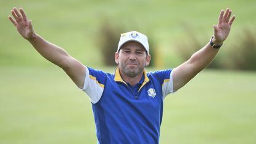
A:
<svg viewBox="0 0 256 144">
<path fill-rule="evenodd" d="M 162 85 L 163 99 L 170 93 L 173 93 L 173 70 L 170 73 L 170 79 L 165 79 Z"/>
</svg>

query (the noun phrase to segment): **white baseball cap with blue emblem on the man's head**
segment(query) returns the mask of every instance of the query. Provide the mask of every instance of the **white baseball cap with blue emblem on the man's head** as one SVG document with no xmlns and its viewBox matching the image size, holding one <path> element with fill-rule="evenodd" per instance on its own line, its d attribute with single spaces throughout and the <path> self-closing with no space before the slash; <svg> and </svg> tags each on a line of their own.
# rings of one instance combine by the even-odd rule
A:
<svg viewBox="0 0 256 144">
<path fill-rule="evenodd" d="M 122 33 L 120 36 L 120 41 L 118 43 L 117 52 L 120 50 L 123 44 L 129 41 L 139 42 L 146 49 L 147 54 L 149 54 L 149 42 L 147 41 L 147 36 L 139 33 L 138 31 L 129 31 L 127 33 Z"/>
</svg>

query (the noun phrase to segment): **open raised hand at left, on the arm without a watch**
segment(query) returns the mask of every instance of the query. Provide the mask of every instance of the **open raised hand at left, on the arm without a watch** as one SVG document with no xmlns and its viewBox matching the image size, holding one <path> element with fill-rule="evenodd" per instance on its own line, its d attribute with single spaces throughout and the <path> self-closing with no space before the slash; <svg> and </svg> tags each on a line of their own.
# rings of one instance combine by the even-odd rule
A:
<svg viewBox="0 0 256 144">
<path fill-rule="evenodd" d="M 23 38 L 30 40 L 35 34 L 33 26 L 31 25 L 31 20 L 28 20 L 27 15 L 22 8 L 19 10 L 16 7 L 11 10 L 12 16 L 14 18 L 9 15 L 10 22 L 14 24 Z"/>
</svg>

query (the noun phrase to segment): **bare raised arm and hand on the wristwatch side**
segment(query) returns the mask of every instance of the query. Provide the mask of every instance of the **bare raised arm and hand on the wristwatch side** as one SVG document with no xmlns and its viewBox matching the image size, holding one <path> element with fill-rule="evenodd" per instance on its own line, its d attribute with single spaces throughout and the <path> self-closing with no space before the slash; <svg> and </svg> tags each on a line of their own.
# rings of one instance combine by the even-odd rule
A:
<svg viewBox="0 0 256 144">
<path fill-rule="evenodd" d="M 231 10 L 221 10 L 218 18 L 218 24 L 213 25 L 214 38 L 212 39 L 213 44 L 221 46 L 223 41 L 228 38 L 231 25 L 234 21 L 234 16 L 231 17 Z M 197 73 L 202 71 L 217 55 L 219 49 L 214 49 L 210 42 L 202 49 L 197 51 L 189 58 L 187 62 L 184 62 L 173 70 L 173 89 L 178 90 L 189 82 Z"/>
</svg>

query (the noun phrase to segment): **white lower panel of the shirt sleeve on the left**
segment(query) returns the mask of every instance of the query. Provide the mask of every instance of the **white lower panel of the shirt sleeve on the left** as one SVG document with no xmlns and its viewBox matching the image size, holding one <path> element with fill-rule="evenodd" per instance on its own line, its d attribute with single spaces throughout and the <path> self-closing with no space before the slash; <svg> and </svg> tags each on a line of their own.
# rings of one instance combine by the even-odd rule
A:
<svg viewBox="0 0 256 144">
<path fill-rule="evenodd" d="M 89 99 L 92 103 L 97 103 L 101 99 L 104 87 L 100 86 L 97 82 L 97 79 L 92 79 L 89 76 L 89 70 L 86 67 L 86 75 L 85 75 L 85 82 L 83 86 L 84 92 L 89 96 Z"/>
</svg>

